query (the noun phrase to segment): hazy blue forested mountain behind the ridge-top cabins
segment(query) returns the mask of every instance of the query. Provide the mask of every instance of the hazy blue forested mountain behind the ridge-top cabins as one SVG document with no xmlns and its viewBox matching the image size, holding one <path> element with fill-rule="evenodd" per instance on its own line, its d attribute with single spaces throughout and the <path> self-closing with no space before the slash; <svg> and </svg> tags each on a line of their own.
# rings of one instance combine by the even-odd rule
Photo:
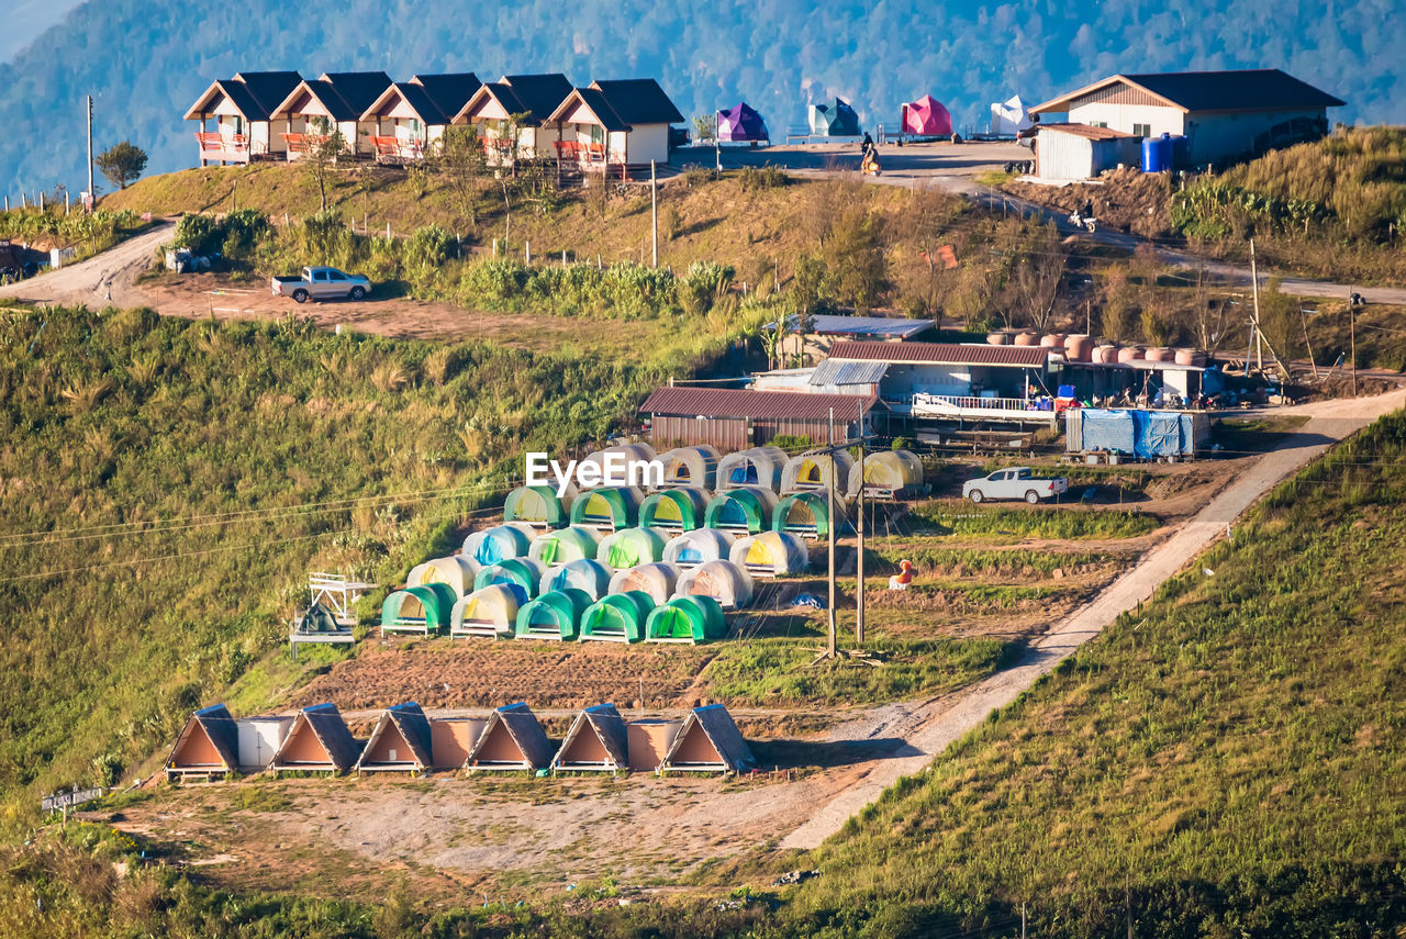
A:
<svg viewBox="0 0 1406 939">
<path fill-rule="evenodd" d="M 1406 122 L 1392 0 L 910 4 L 891 0 L 89 0 L 0 66 L 0 193 L 86 186 L 83 96 L 96 146 L 131 139 L 148 173 L 195 163 L 186 108 L 240 70 L 565 72 L 654 76 L 689 115 L 747 100 L 773 136 L 839 96 L 866 128 L 931 93 L 962 129 L 988 105 L 1038 103 L 1115 72 L 1281 67 L 1348 103 L 1334 121 Z M 101 181 L 100 181 L 101 186 Z"/>
</svg>

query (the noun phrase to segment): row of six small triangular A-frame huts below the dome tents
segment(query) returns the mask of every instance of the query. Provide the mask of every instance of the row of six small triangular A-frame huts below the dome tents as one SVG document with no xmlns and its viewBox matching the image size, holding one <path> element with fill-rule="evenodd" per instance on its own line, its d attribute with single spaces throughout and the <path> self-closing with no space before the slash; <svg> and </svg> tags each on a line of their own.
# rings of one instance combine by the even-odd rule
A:
<svg viewBox="0 0 1406 939">
<path fill-rule="evenodd" d="M 224 704 L 186 721 L 166 776 L 215 779 L 238 773 L 465 772 L 703 772 L 745 773 L 756 760 L 721 704 L 683 718 L 626 721 L 614 704 L 588 707 L 561 746 L 526 703 L 488 717 L 429 717 L 411 701 L 385 708 L 366 741 L 353 737 L 336 704 L 295 715 L 235 718 Z"/>
</svg>

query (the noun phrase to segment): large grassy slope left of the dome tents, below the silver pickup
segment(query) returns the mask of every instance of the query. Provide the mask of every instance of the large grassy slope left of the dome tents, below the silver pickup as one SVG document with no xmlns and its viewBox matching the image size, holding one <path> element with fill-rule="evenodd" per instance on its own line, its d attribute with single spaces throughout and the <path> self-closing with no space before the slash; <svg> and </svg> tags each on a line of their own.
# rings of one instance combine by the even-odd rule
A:
<svg viewBox="0 0 1406 939">
<path fill-rule="evenodd" d="M 524 447 L 564 451 L 631 419 L 665 374 L 710 351 L 693 342 L 692 356 L 624 364 L 333 336 L 291 318 L 6 311 L 8 820 L 32 811 L 21 793 L 125 777 L 193 707 L 284 662 L 309 568 L 394 582 L 456 544 L 481 505 L 496 512 Z M 281 694 L 318 661 L 250 686 Z"/>
</svg>

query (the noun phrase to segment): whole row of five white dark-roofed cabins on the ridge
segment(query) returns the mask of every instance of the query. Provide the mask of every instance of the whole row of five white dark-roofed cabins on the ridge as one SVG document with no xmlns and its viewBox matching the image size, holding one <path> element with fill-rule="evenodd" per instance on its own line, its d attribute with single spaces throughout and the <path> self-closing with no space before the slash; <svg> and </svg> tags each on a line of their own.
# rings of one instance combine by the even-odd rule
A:
<svg viewBox="0 0 1406 939">
<path fill-rule="evenodd" d="M 509 119 L 522 115 L 516 155 L 579 166 L 638 167 L 669 160 L 669 125 L 683 115 L 654 79 L 592 82 L 574 87 L 565 75 L 505 75 L 479 82 L 472 72 L 416 75 L 392 82 L 385 72 L 240 72 L 218 79 L 195 98 L 187 121 L 200 121 L 200 164 L 297 159 L 318 128 L 335 127 L 360 157 L 413 163 L 451 124 L 475 125 L 495 162 L 513 152 Z"/>
</svg>

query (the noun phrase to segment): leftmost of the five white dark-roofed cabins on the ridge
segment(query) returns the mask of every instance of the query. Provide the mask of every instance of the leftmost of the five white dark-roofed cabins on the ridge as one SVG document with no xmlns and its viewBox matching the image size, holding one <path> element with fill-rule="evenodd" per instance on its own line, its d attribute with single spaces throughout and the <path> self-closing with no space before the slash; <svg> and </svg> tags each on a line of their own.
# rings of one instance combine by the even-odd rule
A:
<svg viewBox="0 0 1406 939">
<path fill-rule="evenodd" d="M 200 164 L 281 157 L 285 146 L 270 118 L 299 82 L 297 72 L 240 72 L 211 82 L 186 111 L 187 121 L 200 121 Z"/>
</svg>

